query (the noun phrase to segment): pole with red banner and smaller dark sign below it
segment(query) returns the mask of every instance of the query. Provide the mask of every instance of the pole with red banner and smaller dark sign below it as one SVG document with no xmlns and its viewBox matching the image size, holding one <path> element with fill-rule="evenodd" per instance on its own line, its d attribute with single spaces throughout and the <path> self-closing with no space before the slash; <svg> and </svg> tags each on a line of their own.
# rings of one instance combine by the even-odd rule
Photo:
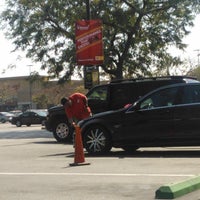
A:
<svg viewBox="0 0 200 200">
<path fill-rule="evenodd" d="M 99 84 L 99 65 L 103 64 L 102 21 L 90 19 L 90 0 L 86 0 L 86 19 L 76 21 L 76 59 L 84 66 L 86 89 Z"/>
</svg>

